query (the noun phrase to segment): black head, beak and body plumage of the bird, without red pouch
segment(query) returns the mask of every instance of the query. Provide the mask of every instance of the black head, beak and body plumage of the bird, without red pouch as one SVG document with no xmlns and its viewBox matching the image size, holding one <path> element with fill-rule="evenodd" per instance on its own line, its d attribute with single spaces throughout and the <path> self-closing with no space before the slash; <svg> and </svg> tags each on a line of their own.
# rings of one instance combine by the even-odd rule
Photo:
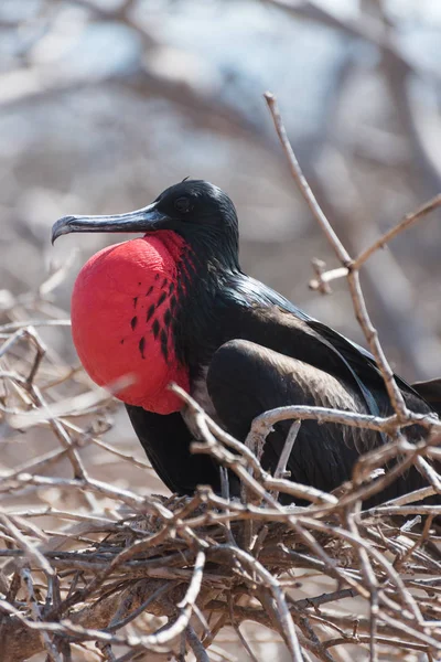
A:
<svg viewBox="0 0 441 662">
<path fill-rule="evenodd" d="M 256 416 L 282 405 L 392 413 L 381 375 L 366 350 L 240 270 L 236 211 L 219 189 L 185 181 L 136 214 L 130 222 L 119 216 L 107 221 L 69 216 L 54 226 L 54 237 L 90 229 L 168 229 L 185 239 L 176 287 L 170 285 L 174 293 L 166 325 L 176 356 L 190 372 L 192 394 L 238 439 L 245 439 Z M 153 332 L 158 337 L 159 328 Z M 165 331 L 163 335 L 159 341 L 166 349 Z M 148 346 L 142 350 L 148 356 Z M 438 381 L 412 387 L 396 380 L 413 412 L 439 410 Z M 190 453 L 194 430 L 185 412 L 164 416 L 132 405 L 127 410 L 153 468 L 172 491 L 189 494 L 201 483 L 219 490 L 215 462 Z M 290 421 L 280 423 L 268 436 L 266 469 L 276 468 L 289 426 Z M 413 426 L 407 434 L 418 440 L 424 431 Z M 370 430 L 303 421 L 288 470 L 292 480 L 333 490 L 351 478 L 361 452 L 384 441 L 384 435 Z M 411 468 L 374 502 L 426 484 Z"/>
</svg>

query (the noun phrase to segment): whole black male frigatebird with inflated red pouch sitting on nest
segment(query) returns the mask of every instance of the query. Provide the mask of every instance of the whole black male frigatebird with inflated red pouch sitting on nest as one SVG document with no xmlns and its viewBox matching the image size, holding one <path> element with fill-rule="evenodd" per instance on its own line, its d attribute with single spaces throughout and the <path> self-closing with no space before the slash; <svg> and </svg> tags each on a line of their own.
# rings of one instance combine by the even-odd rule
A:
<svg viewBox="0 0 441 662">
<path fill-rule="evenodd" d="M 197 431 L 168 388 L 171 382 L 240 440 L 256 416 L 281 405 L 391 413 L 367 351 L 241 271 L 236 210 L 217 186 L 190 180 L 135 212 L 65 216 L 54 224 L 52 241 L 74 232 L 143 235 L 104 248 L 83 267 L 73 291 L 72 332 L 97 384 L 135 375 L 118 397 L 170 490 L 190 494 L 201 483 L 219 490 L 215 462 L 190 452 Z M 424 399 L 430 386 L 411 387 L 399 377 L 397 384 L 413 412 L 437 409 Z M 266 469 L 275 470 L 290 425 L 280 423 L 269 435 Z M 422 429 L 407 434 L 417 440 Z M 308 420 L 288 470 L 294 481 L 331 491 L 351 478 L 361 452 L 383 442 L 372 430 Z M 424 484 L 410 469 L 381 498 Z"/>
</svg>

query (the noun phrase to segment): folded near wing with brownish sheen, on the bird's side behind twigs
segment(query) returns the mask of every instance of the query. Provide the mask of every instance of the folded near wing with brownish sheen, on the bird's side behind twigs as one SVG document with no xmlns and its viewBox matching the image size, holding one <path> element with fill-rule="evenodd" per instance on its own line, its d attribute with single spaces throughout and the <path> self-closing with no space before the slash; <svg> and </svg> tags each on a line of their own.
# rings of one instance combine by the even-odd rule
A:
<svg viewBox="0 0 441 662">
<path fill-rule="evenodd" d="M 340 378 L 248 340 L 229 341 L 215 352 L 207 374 L 207 388 L 219 419 L 241 440 L 259 414 L 292 403 L 366 410 L 354 389 Z M 291 424 L 292 420 L 276 424 L 266 438 L 261 463 L 272 473 Z M 380 442 L 380 436 L 372 430 L 303 420 L 287 469 L 293 481 L 331 491 L 351 478 L 359 453 Z M 426 484 L 426 479 L 411 468 L 369 505 Z M 289 501 L 282 500 L 283 503 Z"/>
</svg>

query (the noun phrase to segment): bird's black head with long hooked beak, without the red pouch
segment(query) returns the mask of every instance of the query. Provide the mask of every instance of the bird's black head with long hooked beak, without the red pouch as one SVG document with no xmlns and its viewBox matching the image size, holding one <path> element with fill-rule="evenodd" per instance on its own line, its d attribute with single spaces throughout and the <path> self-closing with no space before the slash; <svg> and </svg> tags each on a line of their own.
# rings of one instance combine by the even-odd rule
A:
<svg viewBox="0 0 441 662">
<path fill-rule="evenodd" d="M 52 243 L 77 232 L 143 233 L 172 231 L 200 259 L 238 268 L 238 225 L 235 206 L 218 186 L 184 180 L 165 189 L 147 206 L 106 216 L 63 216 L 52 228 Z"/>
</svg>

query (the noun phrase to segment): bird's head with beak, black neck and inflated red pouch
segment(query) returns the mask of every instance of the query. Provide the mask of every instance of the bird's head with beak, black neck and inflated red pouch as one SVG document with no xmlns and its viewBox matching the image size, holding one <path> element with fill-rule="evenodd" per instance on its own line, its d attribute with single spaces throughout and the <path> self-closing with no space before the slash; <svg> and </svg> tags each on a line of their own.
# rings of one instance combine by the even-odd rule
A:
<svg viewBox="0 0 441 662">
<path fill-rule="evenodd" d="M 206 314 L 223 274 L 239 268 L 233 202 L 208 182 L 183 181 L 135 212 L 64 216 L 52 242 L 76 232 L 143 234 L 98 252 L 78 274 L 72 333 L 85 370 L 99 385 L 132 375 L 118 394 L 127 404 L 178 410 L 166 386 L 189 386 L 189 324 Z"/>
</svg>

